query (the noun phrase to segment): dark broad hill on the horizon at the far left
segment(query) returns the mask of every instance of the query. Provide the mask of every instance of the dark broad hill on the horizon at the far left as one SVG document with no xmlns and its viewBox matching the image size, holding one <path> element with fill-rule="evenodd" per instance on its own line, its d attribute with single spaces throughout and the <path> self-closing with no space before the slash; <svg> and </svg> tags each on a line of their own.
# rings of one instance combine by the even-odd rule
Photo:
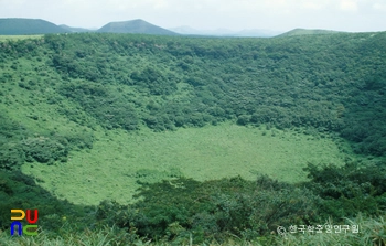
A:
<svg viewBox="0 0 386 246">
<path fill-rule="evenodd" d="M 65 33 L 65 29 L 41 19 L 0 19 L 0 35 Z"/>
</svg>

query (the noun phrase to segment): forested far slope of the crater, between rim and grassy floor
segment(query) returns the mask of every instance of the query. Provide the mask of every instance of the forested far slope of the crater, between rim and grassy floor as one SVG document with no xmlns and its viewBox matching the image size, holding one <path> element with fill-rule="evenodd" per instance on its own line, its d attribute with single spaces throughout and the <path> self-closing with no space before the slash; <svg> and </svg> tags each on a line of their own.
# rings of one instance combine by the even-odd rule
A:
<svg viewBox="0 0 386 246">
<path fill-rule="evenodd" d="M 90 128 L 303 126 L 336 131 L 358 153 L 384 156 L 385 39 L 71 34 L 6 42 L 1 101 L 10 104 L 4 88 L 13 83 L 43 97 L 51 89 L 47 104 Z"/>
</svg>

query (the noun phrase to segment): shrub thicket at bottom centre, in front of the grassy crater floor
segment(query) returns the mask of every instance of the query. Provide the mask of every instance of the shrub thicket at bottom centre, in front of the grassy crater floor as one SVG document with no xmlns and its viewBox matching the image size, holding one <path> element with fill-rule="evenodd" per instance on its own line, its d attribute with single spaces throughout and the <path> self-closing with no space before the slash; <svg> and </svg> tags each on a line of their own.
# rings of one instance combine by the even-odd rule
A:
<svg viewBox="0 0 386 246">
<path fill-rule="evenodd" d="M 266 235 L 279 225 L 317 220 L 317 197 L 307 189 L 260 177 L 257 182 L 242 178 L 199 182 L 175 179 L 143 185 L 132 205 L 105 201 L 97 218 L 140 236 L 172 239 L 190 233 L 194 243 L 225 239 L 229 234 Z M 114 211 L 114 213 L 112 213 Z"/>
</svg>

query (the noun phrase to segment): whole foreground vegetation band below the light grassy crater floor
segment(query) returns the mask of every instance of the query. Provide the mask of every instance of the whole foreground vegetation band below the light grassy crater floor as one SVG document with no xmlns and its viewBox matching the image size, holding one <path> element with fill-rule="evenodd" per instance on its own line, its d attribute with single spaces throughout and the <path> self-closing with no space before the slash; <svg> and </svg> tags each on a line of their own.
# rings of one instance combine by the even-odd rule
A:
<svg viewBox="0 0 386 246">
<path fill-rule="evenodd" d="M 311 170 L 313 168 L 309 167 Z M 79 240 L 104 245 L 146 242 L 153 242 L 154 245 L 383 245 L 386 242 L 385 215 L 377 213 L 385 206 L 384 195 L 379 196 L 385 194 L 385 189 L 374 185 L 384 180 L 386 171 L 383 169 L 374 173 L 374 167 L 360 168 L 350 163 L 344 168 L 324 167 L 321 174 L 334 180 L 334 183 L 342 178 L 334 178 L 334 173 L 343 173 L 349 168 L 352 168 L 349 179 L 343 179 L 339 188 L 341 194 L 335 200 L 325 195 L 331 193 L 328 185 L 318 191 L 321 188 L 318 183 L 320 173 L 311 171 L 311 181 L 302 184 L 282 183 L 264 175 L 256 181 L 246 181 L 240 177 L 205 182 L 179 178 L 144 184 L 137 194 L 140 200 L 133 204 L 121 205 L 114 201 L 103 201 L 96 208 L 82 208 L 52 200 L 47 193 L 34 188 L 31 179 L 14 175 L 2 182 L 2 186 L 8 189 L 10 194 L 14 192 L 15 197 L 31 197 L 29 204 L 34 204 L 34 207 L 41 210 L 42 231 L 36 237 L 21 238 L 10 238 L 2 233 L 0 242 L 6 245 L 23 242 L 36 245 L 42 240 L 66 245 L 76 245 Z M 357 180 L 350 180 L 350 177 Z M 11 180 L 18 181 L 10 185 Z M 30 184 L 25 185 L 28 182 Z M 350 186 L 345 185 L 349 183 Z M 25 188 L 30 186 L 34 189 L 25 191 Z M 376 190 L 376 193 L 372 190 Z M 353 191 L 356 191 L 354 196 L 350 195 Z M 40 192 L 40 200 L 34 196 L 35 192 Z M 356 199 L 363 197 L 366 197 L 363 202 L 367 202 L 371 210 L 363 210 L 361 205 L 353 206 L 361 202 Z M 12 199 L 12 203 L 17 204 L 17 201 Z M 343 220 L 335 217 L 334 214 L 325 213 L 325 203 L 329 203 L 331 208 L 339 205 L 339 210 L 350 211 L 356 216 Z M 372 215 L 375 217 L 369 218 Z M 360 233 L 329 234 L 323 231 L 322 234 L 272 235 L 278 226 L 288 229 L 291 225 L 303 224 L 358 225 Z M 8 229 L 6 232 L 9 233 Z"/>
</svg>

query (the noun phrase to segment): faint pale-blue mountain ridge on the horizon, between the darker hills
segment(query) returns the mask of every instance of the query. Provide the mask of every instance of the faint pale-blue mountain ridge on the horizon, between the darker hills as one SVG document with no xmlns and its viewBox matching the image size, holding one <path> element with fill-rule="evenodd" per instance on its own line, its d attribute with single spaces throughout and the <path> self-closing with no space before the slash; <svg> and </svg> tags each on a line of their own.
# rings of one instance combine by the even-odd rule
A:
<svg viewBox="0 0 386 246">
<path fill-rule="evenodd" d="M 242 31 L 232 31 L 228 29 L 215 29 L 215 30 L 196 30 L 187 25 L 178 26 L 170 29 L 180 34 L 185 35 L 211 35 L 211 36 L 259 36 L 268 38 L 280 34 L 281 32 L 271 31 L 271 30 L 260 30 L 260 29 L 250 29 Z"/>
</svg>

